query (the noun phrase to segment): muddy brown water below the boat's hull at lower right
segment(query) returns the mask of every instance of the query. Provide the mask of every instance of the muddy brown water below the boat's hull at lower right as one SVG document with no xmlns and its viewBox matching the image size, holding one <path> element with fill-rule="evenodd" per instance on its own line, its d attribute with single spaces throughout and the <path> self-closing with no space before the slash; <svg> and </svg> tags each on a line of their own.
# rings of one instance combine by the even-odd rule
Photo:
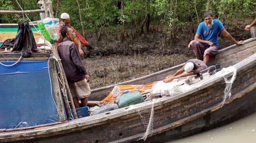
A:
<svg viewBox="0 0 256 143">
<path fill-rule="evenodd" d="M 228 125 L 166 143 L 256 143 L 256 113 Z"/>
</svg>

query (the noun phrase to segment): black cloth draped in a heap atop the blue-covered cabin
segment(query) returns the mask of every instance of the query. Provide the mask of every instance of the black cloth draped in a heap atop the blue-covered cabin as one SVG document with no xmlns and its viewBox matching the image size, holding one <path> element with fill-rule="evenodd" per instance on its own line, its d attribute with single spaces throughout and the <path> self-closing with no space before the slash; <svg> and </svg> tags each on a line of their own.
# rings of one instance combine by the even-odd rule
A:
<svg viewBox="0 0 256 143">
<path fill-rule="evenodd" d="M 36 41 L 29 23 L 20 23 L 13 45 L 13 52 L 20 51 L 22 57 L 30 57 L 32 49 L 36 49 Z"/>
</svg>

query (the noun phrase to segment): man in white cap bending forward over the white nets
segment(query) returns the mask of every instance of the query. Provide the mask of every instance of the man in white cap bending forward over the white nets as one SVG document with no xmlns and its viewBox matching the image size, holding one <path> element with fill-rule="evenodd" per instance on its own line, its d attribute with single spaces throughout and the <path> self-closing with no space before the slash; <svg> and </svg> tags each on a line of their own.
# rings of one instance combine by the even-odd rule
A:
<svg viewBox="0 0 256 143">
<path fill-rule="evenodd" d="M 189 59 L 181 69 L 179 69 L 175 74 L 167 76 L 163 81 L 168 83 L 181 77 L 191 76 L 194 74 L 199 75 L 200 71 L 204 69 L 207 69 L 207 65 L 203 61 L 200 59 Z"/>
</svg>

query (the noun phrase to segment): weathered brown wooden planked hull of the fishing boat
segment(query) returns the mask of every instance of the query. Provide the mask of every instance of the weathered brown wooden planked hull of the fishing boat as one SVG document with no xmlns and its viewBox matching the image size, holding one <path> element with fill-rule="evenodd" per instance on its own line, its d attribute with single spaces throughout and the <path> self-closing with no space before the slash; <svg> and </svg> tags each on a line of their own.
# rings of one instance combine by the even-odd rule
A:
<svg viewBox="0 0 256 143">
<path fill-rule="evenodd" d="M 224 106 L 222 104 L 223 91 L 225 89 L 223 76 L 230 78 L 232 72 L 227 72 L 223 76 L 213 75 L 206 81 L 197 84 L 195 88 L 177 96 L 157 99 L 154 102 L 153 132 L 146 142 L 163 142 L 188 136 L 222 126 L 253 113 L 256 110 L 255 52 L 256 38 L 251 38 L 246 40 L 242 46 L 232 45 L 221 49 L 215 59 L 211 61 L 210 64 L 218 63 L 222 67 L 233 65 L 237 69 L 236 80 L 231 89 L 232 95 L 225 100 Z M 0 56 L 3 57 L 4 55 L 0 54 Z M 48 59 L 49 57 L 45 58 Z M 50 65 L 52 64 L 51 61 L 52 59 L 50 60 Z M 166 75 L 172 74 L 182 65 L 180 64 L 121 84 L 144 84 L 158 81 Z M 54 87 L 56 87 L 55 84 Z M 98 101 L 103 99 L 105 91 L 110 90 L 112 87 L 107 86 L 95 89 L 91 99 L 97 99 Z M 146 101 L 132 107 L 119 108 L 71 121 L 0 130 L 0 142 L 143 142 L 139 138 L 143 136 L 146 128 L 143 127 L 138 112 L 150 109 L 151 107 L 152 101 Z"/>
</svg>

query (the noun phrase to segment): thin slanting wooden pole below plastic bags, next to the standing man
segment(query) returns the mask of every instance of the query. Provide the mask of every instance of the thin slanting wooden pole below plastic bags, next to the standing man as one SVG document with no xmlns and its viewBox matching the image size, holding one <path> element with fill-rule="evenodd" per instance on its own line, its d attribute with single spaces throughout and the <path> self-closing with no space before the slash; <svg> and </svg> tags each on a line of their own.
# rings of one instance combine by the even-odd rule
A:
<svg viewBox="0 0 256 143">
<path fill-rule="evenodd" d="M 54 56 L 56 56 L 57 59 L 60 59 L 60 58 L 59 58 L 59 54 L 58 54 L 58 50 L 57 50 L 56 44 L 53 44 L 53 47 L 52 47 L 52 48 L 53 48 Z M 74 118 L 77 119 L 77 112 L 76 112 L 76 108 L 75 108 L 75 106 L 74 106 L 74 102 L 73 102 L 73 98 L 72 98 L 71 91 L 70 91 L 69 86 L 68 86 L 67 77 L 66 77 L 66 75 L 65 75 L 65 72 L 64 72 L 64 69 L 63 69 L 63 67 L 62 67 L 61 62 L 60 62 L 60 61 L 58 61 L 58 62 L 59 62 L 59 64 L 60 64 L 60 67 L 57 66 L 57 68 L 58 68 L 59 71 L 62 72 L 62 75 L 63 75 L 63 78 L 64 78 L 64 82 L 67 84 L 67 99 L 66 99 L 65 96 L 64 96 L 64 100 L 67 100 L 67 101 L 65 101 L 65 102 L 68 103 L 68 99 L 69 99 L 70 104 L 71 104 L 71 108 L 72 108 L 72 110 L 73 110 L 73 112 L 74 112 Z M 67 106 L 68 106 L 68 105 L 67 105 Z M 66 108 L 67 108 L 67 107 L 66 107 Z"/>
</svg>

